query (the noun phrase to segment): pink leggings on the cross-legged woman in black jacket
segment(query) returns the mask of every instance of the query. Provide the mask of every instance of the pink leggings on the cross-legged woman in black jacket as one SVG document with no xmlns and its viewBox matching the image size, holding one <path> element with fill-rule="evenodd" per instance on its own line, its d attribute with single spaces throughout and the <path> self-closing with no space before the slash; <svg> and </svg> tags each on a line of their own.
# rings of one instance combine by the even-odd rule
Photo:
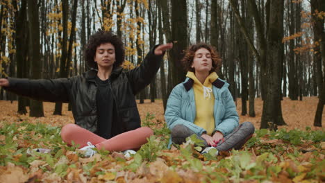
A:
<svg viewBox="0 0 325 183">
<path fill-rule="evenodd" d="M 137 150 L 144 143 L 147 143 L 147 138 L 151 135 L 153 135 L 153 131 L 148 127 L 124 132 L 110 139 L 99 137 L 97 134 L 85 130 L 76 124 L 67 124 L 61 130 L 63 141 L 69 145 L 72 145 L 72 141 L 74 141 L 74 144 L 80 145 L 79 148 L 83 148 L 90 141 L 97 149 L 104 148 L 109 151 Z"/>
</svg>

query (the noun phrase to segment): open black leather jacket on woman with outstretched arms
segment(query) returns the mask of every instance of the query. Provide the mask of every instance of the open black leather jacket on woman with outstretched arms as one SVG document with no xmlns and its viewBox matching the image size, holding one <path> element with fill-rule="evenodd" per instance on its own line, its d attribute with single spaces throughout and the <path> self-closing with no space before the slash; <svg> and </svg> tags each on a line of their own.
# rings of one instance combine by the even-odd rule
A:
<svg viewBox="0 0 325 183">
<path fill-rule="evenodd" d="M 135 94 L 149 85 L 163 60 L 163 55 L 154 55 L 151 49 L 139 67 L 131 71 L 122 71 L 122 67 L 113 69 L 110 86 L 115 100 L 119 133 L 140 127 L 140 115 L 135 103 Z M 58 78 L 53 80 L 28 80 L 8 78 L 9 87 L 5 89 L 39 101 L 71 103 L 72 114 L 77 125 L 97 131 L 97 70 L 90 70 L 81 76 Z"/>
</svg>

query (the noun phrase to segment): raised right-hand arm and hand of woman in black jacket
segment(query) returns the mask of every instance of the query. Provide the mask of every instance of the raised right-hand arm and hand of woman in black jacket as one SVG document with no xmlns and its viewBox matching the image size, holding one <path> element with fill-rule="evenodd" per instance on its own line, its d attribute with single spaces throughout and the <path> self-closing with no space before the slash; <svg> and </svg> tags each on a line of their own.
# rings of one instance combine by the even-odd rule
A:
<svg viewBox="0 0 325 183">
<path fill-rule="evenodd" d="M 172 43 L 161 44 L 153 47 L 139 67 L 126 73 L 132 86 L 133 94 L 138 94 L 141 89 L 144 89 L 144 87 L 149 85 L 160 68 L 160 62 L 163 60 L 165 51 L 172 49 L 172 47 Z"/>
</svg>

